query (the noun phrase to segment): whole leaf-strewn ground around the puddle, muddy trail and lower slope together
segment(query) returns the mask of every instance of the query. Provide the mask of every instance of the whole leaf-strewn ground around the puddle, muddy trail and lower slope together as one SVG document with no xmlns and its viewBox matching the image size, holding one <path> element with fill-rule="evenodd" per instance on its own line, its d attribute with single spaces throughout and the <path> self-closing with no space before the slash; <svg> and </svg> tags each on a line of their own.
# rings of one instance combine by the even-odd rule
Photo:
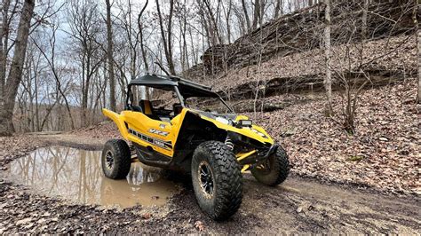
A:
<svg viewBox="0 0 421 236">
<path fill-rule="evenodd" d="M 102 208 L 59 200 L 18 185 L 0 171 L 0 234 L 12 232 L 403 233 L 420 232 L 421 108 L 415 83 L 366 90 L 349 136 L 325 117 L 314 96 L 306 103 L 255 116 L 290 154 L 280 186 L 244 175 L 239 212 L 213 222 L 195 203 L 188 179 L 163 207 Z M 289 99 L 292 95 L 276 99 Z M 295 97 L 300 98 L 297 95 Z M 340 99 L 338 96 L 335 99 Z M 337 104 L 340 104 L 338 100 Z M 338 111 L 339 107 L 335 107 Z M 393 112 L 391 112 L 393 111 Z M 339 116 L 337 116 L 339 119 Z M 111 122 L 67 133 L 0 138 L 0 170 L 40 146 L 99 150 L 118 137 Z M 188 206 L 188 207 L 187 207 Z M 163 213 L 164 212 L 164 213 Z"/>
</svg>

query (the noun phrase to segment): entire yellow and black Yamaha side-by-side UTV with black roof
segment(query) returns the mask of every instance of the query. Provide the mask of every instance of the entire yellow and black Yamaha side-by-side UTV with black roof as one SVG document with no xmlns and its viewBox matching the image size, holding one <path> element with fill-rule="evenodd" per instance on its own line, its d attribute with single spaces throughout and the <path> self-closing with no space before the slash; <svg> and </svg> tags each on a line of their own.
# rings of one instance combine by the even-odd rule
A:
<svg viewBox="0 0 421 236">
<path fill-rule="evenodd" d="M 139 90 L 152 98 L 138 98 Z M 124 110 L 116 114 L 103 109 L 103 113 L 131 143 L 140 162 L 191 172 L 200 208 L 216 220 L 240 208 L 242 172 L 250 170 L 258 182 L 274 186 L 290 171 L 287 153 L 263 128 L 234 114 L 211 88 L 176 76 L 131 80 Z M 101 161 L 106 177 L 129 173 L 131 149 L 126 141 L 113 139 L 104 146 Z"/>
</svg>

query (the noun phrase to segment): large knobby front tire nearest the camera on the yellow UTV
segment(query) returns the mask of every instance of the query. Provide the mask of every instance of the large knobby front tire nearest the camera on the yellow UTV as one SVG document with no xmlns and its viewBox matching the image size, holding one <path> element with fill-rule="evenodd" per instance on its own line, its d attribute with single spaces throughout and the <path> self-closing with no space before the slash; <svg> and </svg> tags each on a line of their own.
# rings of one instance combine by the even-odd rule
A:
<svg viewBox="0 0 421 236">
<path fill-rule="evenodd" d="M 209 168 L 213 191 L 203 188 L 200 171 Z M 234 153 L 218 141 L 207 141 L 197 146 L 192 160 L 192 182 L 195 197 L 208 216 L 214 220 L 225 220 L 242 204 L 242 171 Z"/>
</svg>

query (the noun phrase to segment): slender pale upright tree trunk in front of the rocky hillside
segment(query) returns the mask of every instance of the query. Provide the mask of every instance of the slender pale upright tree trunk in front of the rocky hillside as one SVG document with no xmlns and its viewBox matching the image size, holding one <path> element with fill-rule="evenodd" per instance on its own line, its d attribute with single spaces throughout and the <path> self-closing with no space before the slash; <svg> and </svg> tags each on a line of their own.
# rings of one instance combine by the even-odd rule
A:
<svg viewBox="0 0 421 236">
<path fill-rule="evenodd" d="M 332 114 L 332 72 L 330 66 L 330 0 L 324 0 L 325 9 L 325 28 L 324 28 L 324 45 L 326 57 L 326 77 L 324 78 L 324 87 L 326 89 L 326 97 L 328 104 L 326 106 L 327 114 Z"/>
</svg>

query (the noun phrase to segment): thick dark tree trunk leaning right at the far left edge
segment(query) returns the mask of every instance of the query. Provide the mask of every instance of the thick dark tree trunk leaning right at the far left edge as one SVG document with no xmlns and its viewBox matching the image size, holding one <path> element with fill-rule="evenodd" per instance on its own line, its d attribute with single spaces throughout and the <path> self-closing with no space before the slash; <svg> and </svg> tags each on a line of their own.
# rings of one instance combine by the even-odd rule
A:
<svg viewBox="0 0 421 236">
<path fill-rule="evenodd" d="M 34 13 L 35 0 L 25 0 L 20 21 L 18 25 L 18 34 L 14 44 L 12 65 L 9 77 L 5 84 L 3 95 L 3 104 L 0 104 L 0 136 L 10 136 L 14 132 L 12 123 L 12 114 L 14 101 L 18 92 L 19 84 L 22 79 L 23 63 L 28 44 L 29 28 Z"/>
</svg>

